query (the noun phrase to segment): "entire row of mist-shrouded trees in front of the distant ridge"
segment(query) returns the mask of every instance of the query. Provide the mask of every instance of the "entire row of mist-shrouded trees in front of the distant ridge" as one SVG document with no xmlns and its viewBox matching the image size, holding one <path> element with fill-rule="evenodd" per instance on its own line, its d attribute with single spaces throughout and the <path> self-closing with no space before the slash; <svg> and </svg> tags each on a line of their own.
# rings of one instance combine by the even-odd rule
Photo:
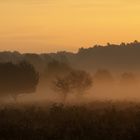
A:
<svg viewBox="0 0 140 140">
<path fill-rule="evenodd" d="M 45 79 L 45 86 L 50 86 L 53 91 L 60 93 L 65 102 L 70 93 L 82 95 L 92 86 L 112 84 L 115 78 L 107 69 L 98 69 L 93 75 L 56 59 L 48 62 L 43 71 L 37 70 L 35 65 L 27 60 L 0 62 L 1 96 L 8 95 L 16 99 L 20 94 L 33 93 L 42 79 Z M 132 85 L 136 82 L 136 76 L 131 72 L 124 72 L 120 82 L 123 85 Z"/>
</svg>

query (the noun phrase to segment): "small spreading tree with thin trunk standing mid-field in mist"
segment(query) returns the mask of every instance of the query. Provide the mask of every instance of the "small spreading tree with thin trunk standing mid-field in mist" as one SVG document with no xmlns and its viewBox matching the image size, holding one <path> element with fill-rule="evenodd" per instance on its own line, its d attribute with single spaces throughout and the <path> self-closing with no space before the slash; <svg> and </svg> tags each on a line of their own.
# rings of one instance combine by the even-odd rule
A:
<svg viewBox="0 0 140 140">
<path fill-rule="evenodd" d="M 92 86 L 92 77 L 85 71 L 72 70 L 68 75 L 57 78 L 54 89 L 60 92 L 65 102 L 68 93 L 83 94 Z"/>
</svg>

